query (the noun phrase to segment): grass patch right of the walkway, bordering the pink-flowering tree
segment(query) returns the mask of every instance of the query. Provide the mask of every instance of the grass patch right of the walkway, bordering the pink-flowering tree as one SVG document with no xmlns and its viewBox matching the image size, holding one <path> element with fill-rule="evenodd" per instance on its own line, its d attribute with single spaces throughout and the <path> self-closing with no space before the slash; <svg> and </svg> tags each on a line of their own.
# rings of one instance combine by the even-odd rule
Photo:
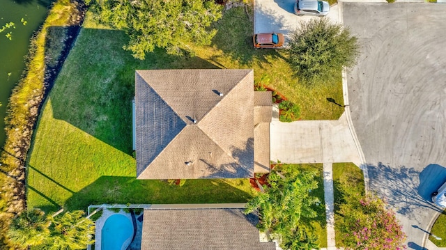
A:
<svg viewBox="0 0 446 250">
<path fill-rule="evenodd" d="M 344 183 L 348 182 L 346 186 Z M 336 247 L 344 247 L 341 244 L 341 234 L 336 226 L 336 221 L 341 219 L 339 205 L 345 203 L 344 197 L 348 194 L 360 194 L 364 196 L 364 175 L 362 170 L 353 163 L 334 163 L 333 164 L 333 185 L 334 185 L 334 229 Z"/>
</svg>

